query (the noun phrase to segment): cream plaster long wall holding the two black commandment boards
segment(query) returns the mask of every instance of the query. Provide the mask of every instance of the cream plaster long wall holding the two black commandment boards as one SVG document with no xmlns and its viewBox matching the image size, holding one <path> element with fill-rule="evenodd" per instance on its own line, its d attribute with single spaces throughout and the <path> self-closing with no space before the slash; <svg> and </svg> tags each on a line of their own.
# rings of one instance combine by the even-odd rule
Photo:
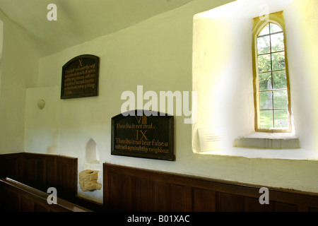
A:
<svg viewBox="0 0 318 226">
<path fill-rule="evenodd" d="M 110 155 L 111 117 L 120 113 L 124 102 L 120 100 L 122 92 L 131 90 L 136 93 L 137 85 L 143 85 L 144 92 L 191 91 L 193 16 L 223 3 L 225 1 L 194 1 L 120 32 L 40 59 L 38 85 L 27 91 L 25 151 L 47 153 L 50 150 L 57 155 L 78 157 L 78 172 L 81 172 L 84 167 L 88 167 L 85 164 L 86 145 L 90 138 L 93 138 L 100 156 L 100 165 L 92 166 L 95 169 L 102 170 L 102 163 L 110 162 L 234 182 L 318 192 L 316 161 L 200 155 L 192 150 L 192 125 L 184 124 L 183 117 L 175 117 L 175 162 Z M 317 25 L 317 18 L 313 21 Z M 242 23 L 246 28 L 251 25 L 246 20 L 242 20 Z M 237 30 L 233 30 L 230 35 L 235 35 L 235 32 Z M 241 37 L 242 40 L 245 37 L 249 39 L 248 33 Z M 218 38 L 222 39 L 221 36 Z M 237 50 L 231 55 L 225 54 L 226 49 L 230 47 L 238 48 L 240 51 Z M 233 73 L 232 67 L 240 64 L 234 59 L 240 58 L 240 53 L 244 50 L 235 42 L 224 48 L 225 52 L 220 51 L 220 58 L 230 61 L 230 68 L 226 64 L 221 66 L 226 68 L 227 72 Z M 100 57 L 100 93 L 98 97 L 60 100 L 58 90 L 61 85 L 61 67 L 69 59 L 80 54 L 95 54 Z M 250 60 L 247 59 L 247 55 L 246 53 L 246 60 Z M 240 60 L 245 61 L 245 58 Z M 240 75 L 249 71 L 249 67 L 242 66 Z M 218 69 L 213 70 L 211 72 L 214 74 L 218 72 Z M 223 79 L 221 75 L 217 78 L 220 81 Z M 311 78 L 311 75 L 309 76 Z M 242 88 L 245 80 L 235 78 L 235 83 L 238 86 L 233 85 L 232 88 Z M 244 92 L 251 93 L 251 89 Z M 34 105 L 35 100 L 40 97 L 45 98 L 47 109 L 39 110 Z M 227 98 L 231 105 L 237 105 L 230 96 Z M 245 102 L 250 104 L 251 100 Z M 225 107 L 228 110 L 228 107 Z M 203 109 L 202 107 L 198 110 Z M 245 109 L 241 109 L 240 117 L 249 117 L 251 112 L 244 111 Z M 45 124 L 44 130 L 41 130 L 42 124 Z M 236 132 L 231 133 L 231 136 L 242 133 L 238 130 L 240 127 L 244 128 L 245 132 L 249 131 L 251 125 L 238 121 L 234 124 Z M 39 131 L 45 135 L 37 136 Z M 317 133 L 315 135 L 317 136 Z M 102 178 L 101 172 L 99 178 Z M 102 191 L 83 193 L 78 186 L 78 193 L 102 201 Z"/>
</svg>

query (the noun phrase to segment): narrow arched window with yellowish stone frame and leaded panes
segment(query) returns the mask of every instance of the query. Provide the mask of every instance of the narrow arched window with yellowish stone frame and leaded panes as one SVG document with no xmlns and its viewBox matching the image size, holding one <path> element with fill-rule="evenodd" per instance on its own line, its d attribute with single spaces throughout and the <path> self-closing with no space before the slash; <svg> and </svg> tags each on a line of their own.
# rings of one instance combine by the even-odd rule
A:
<svg viewBox="0 0 318 226">
<path fill-rule="evenodd" d="M 283 25 L 259 21 L 254 33 L 255 130 L 291 131 L 290 90 Z"/>
</svg>

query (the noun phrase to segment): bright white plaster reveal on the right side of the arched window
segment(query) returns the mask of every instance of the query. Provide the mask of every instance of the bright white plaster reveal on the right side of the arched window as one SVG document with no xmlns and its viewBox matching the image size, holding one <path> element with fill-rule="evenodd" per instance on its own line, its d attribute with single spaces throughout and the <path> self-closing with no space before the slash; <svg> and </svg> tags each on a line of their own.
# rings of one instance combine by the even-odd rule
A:
<svg viewBox="0 0 318 226">
<path fill-rule="evenodd" d="M 290 90 L 300 144 L 317 150 L 318 1 L 293 1 L 284 11 Z"/>
</svg>

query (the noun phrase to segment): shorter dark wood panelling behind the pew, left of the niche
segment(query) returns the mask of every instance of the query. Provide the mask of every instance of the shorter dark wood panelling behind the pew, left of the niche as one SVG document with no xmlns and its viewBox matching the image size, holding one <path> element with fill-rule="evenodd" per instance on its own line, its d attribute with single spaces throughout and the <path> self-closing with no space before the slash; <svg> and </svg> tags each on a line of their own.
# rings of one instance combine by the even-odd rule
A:
<svg viewBox="0 0 318 226">
<path fill-rule="evenodd" d="M 8 177 L 40 191 L 49 187 L 68 201 L 76 199 L 77 158 L 63 155 L 15 153 L 0 155 L 2 178 Z"/>
</svg>

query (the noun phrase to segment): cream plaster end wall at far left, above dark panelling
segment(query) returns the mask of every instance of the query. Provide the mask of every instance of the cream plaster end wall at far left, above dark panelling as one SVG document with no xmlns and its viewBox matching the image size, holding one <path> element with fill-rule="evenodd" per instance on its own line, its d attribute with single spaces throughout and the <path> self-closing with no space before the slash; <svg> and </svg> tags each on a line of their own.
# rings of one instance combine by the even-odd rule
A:
<svg viewBox="0 0 318 226">
<path fill-rule="evenodd" d="M 0 153 L 24 150 L 25 88 L 37 84 L 36 39 L 6 18 L 3 22 L 0 64 Z"/>
</svg>

